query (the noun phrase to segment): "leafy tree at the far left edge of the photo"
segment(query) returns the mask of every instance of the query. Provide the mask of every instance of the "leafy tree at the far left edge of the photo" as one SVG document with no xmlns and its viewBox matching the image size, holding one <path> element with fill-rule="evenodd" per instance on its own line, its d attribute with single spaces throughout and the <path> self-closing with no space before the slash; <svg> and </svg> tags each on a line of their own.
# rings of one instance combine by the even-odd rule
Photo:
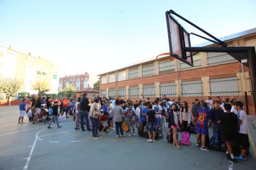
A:
<svg viewBox="0 0 256 170">
<path fill-rule="evenodd" d="M 9 105 L 11 105 L 11 97 L 17 94 L 22 87 L 22 81 L 12 78 L 0 79 L 0 91 L 6 94 Z"/>
</svg>

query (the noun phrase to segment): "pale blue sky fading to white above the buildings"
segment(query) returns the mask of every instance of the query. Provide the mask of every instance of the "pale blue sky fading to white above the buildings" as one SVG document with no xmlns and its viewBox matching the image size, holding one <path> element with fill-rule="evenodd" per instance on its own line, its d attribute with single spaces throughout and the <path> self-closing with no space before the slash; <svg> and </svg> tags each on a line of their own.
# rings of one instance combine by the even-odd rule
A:
<svg viewBox="0 0 256 170">
<path fill-rule="evenodd" d="M 88 72 L 95 83 L 96 75 L 169 52 L 170 9 L 216 38 L 256 28 L 255 0 L 0 0 L 0 46 L 56 63 L 59 76 Z"/>
</svg>

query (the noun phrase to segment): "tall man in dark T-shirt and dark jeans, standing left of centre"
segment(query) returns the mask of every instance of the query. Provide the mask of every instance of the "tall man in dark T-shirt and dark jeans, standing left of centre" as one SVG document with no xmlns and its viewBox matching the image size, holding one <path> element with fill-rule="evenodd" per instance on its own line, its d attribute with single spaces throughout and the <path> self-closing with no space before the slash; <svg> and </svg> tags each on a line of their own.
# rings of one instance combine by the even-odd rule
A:
<svg viewBox="0 0 256 170">
<path fill-rule="evenodd" d="M 85 127 L 83 127 L 83 118 L 85 118 L 87 131 L 92 131 L 89 126 L 89 119 L 88 119 L 88 107 L 89 99 L 87 98 L 87 93 L 83 93 L 83 98 L 80 100 L 79 104 L 79 115 L 80 115 L 80 124 L 82 131 L 85 131 Z"/>
</svg>

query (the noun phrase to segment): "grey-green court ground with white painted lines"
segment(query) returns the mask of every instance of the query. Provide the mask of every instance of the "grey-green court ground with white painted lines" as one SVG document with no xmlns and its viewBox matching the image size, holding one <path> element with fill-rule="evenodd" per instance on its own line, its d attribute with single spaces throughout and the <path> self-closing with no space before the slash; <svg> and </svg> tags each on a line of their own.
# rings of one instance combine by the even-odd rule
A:
<svg viewBox="0 0 256 170">
<path fill-rule="evenodd" d="M 72 118 L 62 127 L 48 124 L 17 124 L 19 107 L 0 107 L 0 169 L 255 169 L 255 116 L 249 117 L 252 157 L 230 164 L 222 152 L 205 152 L 195 146 L 178 150 L 166 140 L 155 143 L 139 136 L 116 138 L 115 131 L 98 138 L 74 129 Z M 211 128 L 209 129 L 211 136 Z M 136 131 L 137 134 L 137 131 Z M 179 132 L 179 139 L 181 133 Z"/>
</svg>

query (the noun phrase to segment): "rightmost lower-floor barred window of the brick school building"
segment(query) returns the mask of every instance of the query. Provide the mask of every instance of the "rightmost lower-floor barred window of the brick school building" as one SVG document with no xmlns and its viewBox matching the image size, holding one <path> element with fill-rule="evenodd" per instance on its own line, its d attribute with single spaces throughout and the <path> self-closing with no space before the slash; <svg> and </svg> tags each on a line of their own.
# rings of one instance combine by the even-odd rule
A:
<svg viewBox="0 0 256 170">
<path fill-rule="evenodd" d="M 210 79 L 210 94 L 239 95 L 237 77 Z"/>
</svg>

